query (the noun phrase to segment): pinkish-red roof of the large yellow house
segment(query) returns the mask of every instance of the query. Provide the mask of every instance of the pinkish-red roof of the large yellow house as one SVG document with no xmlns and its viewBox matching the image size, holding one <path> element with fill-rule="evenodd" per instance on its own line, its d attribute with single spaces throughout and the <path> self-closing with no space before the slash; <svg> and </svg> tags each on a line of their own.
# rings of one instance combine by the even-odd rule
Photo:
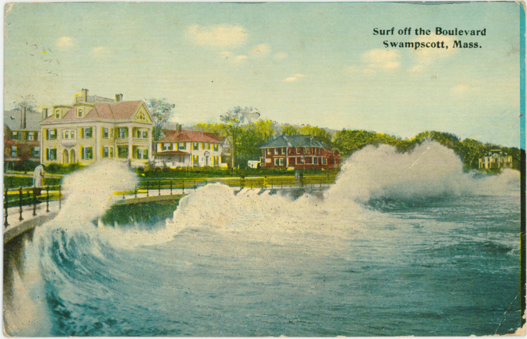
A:
<svg viewBox="0 0 527 339">
<path fill-rule="evenodd" d="M 71 107 L 69 111 L 61 118 L 56 119 L 53 115 L 44 119 L 42 123 L 51 123 L 57 121 L 83 121 L 93 119 L 103 119 L 111 121 L 129 121 L 137 112 L 141 101 L 122 101 L 116 103 L 93 103 L 92 109 L 83 117 L 78 117 L 75 114 L 75 107 Z"/>
</svg>

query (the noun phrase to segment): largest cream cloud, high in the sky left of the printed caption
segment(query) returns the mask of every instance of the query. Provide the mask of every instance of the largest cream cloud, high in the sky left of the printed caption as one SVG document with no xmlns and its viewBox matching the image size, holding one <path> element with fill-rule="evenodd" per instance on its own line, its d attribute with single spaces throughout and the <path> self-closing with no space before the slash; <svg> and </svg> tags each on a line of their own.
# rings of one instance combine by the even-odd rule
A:
<svg viewBox="0 0 527 339">
<path fill-rule="evenodd" d="M 243 45 L 248 37 L 245 28 L 238 25 L 192 25 L 186 36 L 195 45 L 207 48 L 229 48 Z"/>
</svg>

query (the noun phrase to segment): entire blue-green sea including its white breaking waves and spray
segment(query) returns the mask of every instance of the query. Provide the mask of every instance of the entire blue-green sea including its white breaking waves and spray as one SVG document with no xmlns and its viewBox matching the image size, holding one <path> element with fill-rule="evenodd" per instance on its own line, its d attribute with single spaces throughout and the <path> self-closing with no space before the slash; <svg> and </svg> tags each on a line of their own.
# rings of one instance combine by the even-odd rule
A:
<svg viewBox="0 0 527 339">
<path fill-rule="evenodd" d="M 115 164 L 83 171 L 66 179 L 61 214 L 5 267 L 9 335 L 465 336 L 520 326 L 518 172 L 464 173 L 436 143 L 372 146 L 347 159 L 322 198 L 209 184 L 164 222 L 96 227 L 110 192 L 134 177 Z"/>
</svg>

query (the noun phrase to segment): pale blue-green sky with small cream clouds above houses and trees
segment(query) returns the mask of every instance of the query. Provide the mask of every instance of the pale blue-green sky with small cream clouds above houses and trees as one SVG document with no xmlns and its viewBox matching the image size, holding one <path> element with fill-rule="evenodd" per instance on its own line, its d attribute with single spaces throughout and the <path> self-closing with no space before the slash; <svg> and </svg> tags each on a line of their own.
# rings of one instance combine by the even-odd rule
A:
<svg viewBox="0 0 527 339">
<path fill-rule="evenodd" d="M 87 88 L 167 99 L 184 125 L 250 106 L 278 123 L 519 147 L 520 15 L 514 2 L 7 4 L 4 109 L 26 95 L 72 104 Z"/>
</svg>

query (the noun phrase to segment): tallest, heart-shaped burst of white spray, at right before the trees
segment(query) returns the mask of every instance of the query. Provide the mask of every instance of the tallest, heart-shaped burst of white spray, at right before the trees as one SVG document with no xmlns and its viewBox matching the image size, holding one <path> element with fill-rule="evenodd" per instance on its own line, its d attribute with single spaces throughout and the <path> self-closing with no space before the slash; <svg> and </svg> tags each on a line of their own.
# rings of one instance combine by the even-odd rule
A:
<svg viewBox="0 0 527 339">
<path fill-rule="evenodd" d="M 326 197 L 364 204 L 380 198 L 418 202 L 464 194 L 506 194 L 518 192 L 517 173 L 505 170 L 501 175 L 475 178 L 474 173 L 463 171 L 452 149 L 436 142 L 423 143 L 408 153 L 388 145 L 367 146 L 343 164 Z"/>
</svg>

